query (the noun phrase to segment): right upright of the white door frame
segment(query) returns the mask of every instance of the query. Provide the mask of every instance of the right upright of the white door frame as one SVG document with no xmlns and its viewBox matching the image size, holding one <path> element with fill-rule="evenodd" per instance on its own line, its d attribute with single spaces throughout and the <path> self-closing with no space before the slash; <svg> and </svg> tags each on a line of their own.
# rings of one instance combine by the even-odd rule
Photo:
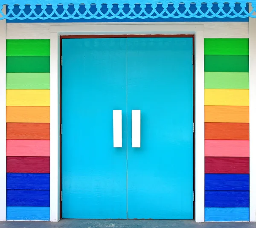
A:
<svg viewBox="0 0 256 228">
<path fill-rule="evenodd" d="M 204 31 L 195 32 L 195 222 L 204 222 Z"/>
</svg>

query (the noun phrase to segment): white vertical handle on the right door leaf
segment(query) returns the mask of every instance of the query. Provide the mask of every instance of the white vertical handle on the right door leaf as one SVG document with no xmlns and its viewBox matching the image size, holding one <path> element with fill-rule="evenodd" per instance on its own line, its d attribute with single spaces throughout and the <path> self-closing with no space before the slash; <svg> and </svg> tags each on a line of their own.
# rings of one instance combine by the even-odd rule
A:
<svg viewBox="0 0 256 228">
<path fill-rule="evenodd" d="M 131 146 L 140 147 L 140 110 L 131 110 Z"/>
</svg>

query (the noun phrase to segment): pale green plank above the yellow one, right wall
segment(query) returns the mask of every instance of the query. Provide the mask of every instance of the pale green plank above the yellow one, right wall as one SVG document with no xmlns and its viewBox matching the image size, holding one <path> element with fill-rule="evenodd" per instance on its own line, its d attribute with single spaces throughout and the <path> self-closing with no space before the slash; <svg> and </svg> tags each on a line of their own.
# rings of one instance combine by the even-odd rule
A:
<svg viewBox="0 0 256 228">
<path fill-rule="evenodd" d="M 205 89 L 249 89 L 247 72 L 205 72 Z"/>
</svg>

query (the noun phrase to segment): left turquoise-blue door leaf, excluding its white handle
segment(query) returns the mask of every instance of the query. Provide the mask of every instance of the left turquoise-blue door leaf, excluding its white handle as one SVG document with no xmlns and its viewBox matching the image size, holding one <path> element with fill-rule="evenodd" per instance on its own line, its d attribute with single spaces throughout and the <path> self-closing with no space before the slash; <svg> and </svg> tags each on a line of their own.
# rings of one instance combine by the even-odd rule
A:
<svg viewBox="0 0 256 228">
<path fill-rule="evenodd" d="M 62 217 L 126 219 L 126 38 L 62 42 Z"/>
</svg>

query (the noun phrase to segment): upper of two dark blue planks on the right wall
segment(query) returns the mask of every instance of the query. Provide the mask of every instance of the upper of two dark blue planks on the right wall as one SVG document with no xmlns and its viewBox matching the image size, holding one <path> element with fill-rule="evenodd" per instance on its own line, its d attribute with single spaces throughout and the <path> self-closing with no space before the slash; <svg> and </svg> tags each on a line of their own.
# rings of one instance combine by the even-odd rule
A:
<svg viewBox="0 0 256 228">
<path fill-rule="evenodd" d="M 249 191 L 249 174 L 205 174 L 205 190 Z"/>
</svg>

